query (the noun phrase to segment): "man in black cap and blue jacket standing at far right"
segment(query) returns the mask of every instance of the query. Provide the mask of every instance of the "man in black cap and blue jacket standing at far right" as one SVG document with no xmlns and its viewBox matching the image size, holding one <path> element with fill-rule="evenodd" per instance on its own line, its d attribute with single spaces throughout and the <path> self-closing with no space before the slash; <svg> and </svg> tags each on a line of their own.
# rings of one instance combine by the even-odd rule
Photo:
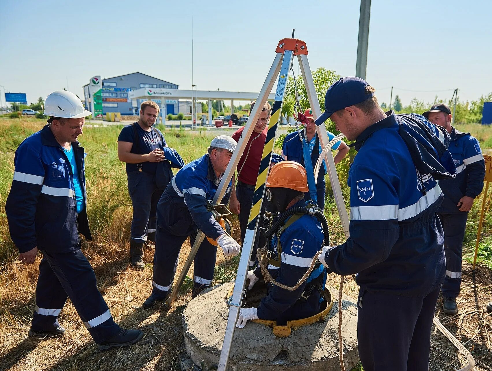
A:
<svg viewBox="0 0 492 371">
<path fill-rule="evenodd" d="M 456 297 L 460 294 L 461 250 L 468 211 L 475 197 L 484 187 L 485 160 L 478 140 L 470 133 L 461 133 L 451 125 L 453 116 L 446 104 L 434 104 L 423 113 L 434 125 L 442 126 L 449 133 L 448 147 L 453 156 L 458 176 L 439 182 L 444 201 L 437 215 L 444 230 L 444 253 L 446 255 L 446 278 L 442 284 L 442 310 L 444 313 L 458 313 Z"/>
</svg>

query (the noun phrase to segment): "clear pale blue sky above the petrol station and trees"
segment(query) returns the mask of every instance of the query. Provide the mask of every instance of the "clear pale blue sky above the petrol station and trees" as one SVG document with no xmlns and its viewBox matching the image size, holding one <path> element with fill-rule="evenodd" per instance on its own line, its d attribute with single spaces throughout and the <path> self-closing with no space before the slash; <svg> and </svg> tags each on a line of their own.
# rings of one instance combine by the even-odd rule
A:
<svg viewBox="0 0 492 371">
<path fill-rule="evenodd" d="M 358 0 L 0 0 L 0 85 L 31 102 L 68 80 L 82 97 L 93 75 L 140 71 L 189 89 L 191 16 L 198 90 L 259 91 L 293 28 L 311 69 L 354 75 L 359 9 Z M 491 1 L 372 0 L 366 79 L 379 101 L 391 86 L 404 104 L 450 99 L 455 88 L 461 100 L 490 93 L 491 14 Z"/>
</svg>

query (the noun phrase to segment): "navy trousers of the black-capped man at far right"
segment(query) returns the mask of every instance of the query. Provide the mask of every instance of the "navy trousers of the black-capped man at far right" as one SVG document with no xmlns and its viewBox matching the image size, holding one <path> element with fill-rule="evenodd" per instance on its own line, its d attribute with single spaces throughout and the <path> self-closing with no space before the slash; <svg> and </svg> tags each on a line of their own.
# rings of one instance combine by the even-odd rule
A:
<svg viewBox="0 0 492 371">
<path fill-rule="evenodd" d="M 461 251 L 467 212 L 461 214 L 438 213 L 444 231 L 444 255 L 446 256 L 446 277 L 442 284 L 442 296 L 456 298 L 461 286 Z"/>
</svg>

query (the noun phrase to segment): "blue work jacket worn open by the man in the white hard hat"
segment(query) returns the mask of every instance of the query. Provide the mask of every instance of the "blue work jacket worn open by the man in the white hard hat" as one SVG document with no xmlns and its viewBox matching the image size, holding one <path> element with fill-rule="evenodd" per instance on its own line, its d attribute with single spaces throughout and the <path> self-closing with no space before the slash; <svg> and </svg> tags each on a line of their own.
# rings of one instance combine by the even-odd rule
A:
<svg viewBox="0 0 492 371">
<path fill-rule="evenodd" d="M 87 219 L 84 148 L 71 143 L 83 186 L 84 208 L 77 214 L 70 162 L 46 125 L 15 151 L 12 188 L 5 203 L 12 241 L 21 253 L 34 247 L 63 253 L 80 249 L 79 232 L 92 239 Z"/>
</svg>

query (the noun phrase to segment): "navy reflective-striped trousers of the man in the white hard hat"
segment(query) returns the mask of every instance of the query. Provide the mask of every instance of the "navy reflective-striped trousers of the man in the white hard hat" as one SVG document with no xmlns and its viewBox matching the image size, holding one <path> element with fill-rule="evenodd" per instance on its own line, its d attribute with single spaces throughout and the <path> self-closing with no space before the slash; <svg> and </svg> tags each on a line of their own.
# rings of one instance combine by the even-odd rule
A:
<svg viewBox="0 0 492 371">
<path fill-rule="evenodd" d="M 68 297 L 96 343 L 115 336 L 120 326 L 113 321 L 108 305 L 97 289 L 94 270 L 82 251 L 42 253 L 32 330 L 57 329 L 60 326 L 58 316 Z"/>
</svg>

